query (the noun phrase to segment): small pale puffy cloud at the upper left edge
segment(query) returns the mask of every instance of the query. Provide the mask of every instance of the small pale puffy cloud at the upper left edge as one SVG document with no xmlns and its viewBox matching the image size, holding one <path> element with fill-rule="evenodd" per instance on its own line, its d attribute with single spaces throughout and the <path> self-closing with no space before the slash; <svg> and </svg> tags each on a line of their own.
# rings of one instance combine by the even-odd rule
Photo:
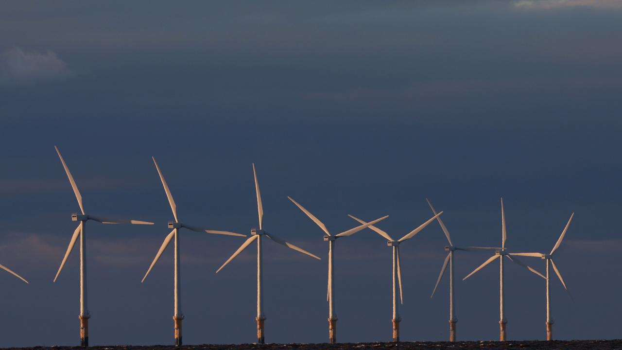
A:
<svg viewBox="0 0 622 350">
<path fill-rule="evenodd" d="M 71 75 L 67 64 L 50 50 L 42 54 L 15 47 L 0 54 L 0 85 L 32 85 Z"/>
</svg>

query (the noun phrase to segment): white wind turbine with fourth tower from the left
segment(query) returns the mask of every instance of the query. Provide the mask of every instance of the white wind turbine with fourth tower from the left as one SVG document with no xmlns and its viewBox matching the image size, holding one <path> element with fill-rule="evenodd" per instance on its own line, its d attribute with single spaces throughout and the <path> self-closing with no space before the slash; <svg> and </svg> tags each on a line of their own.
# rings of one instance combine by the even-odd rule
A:
<svg viewBox="0 0 622 350">
<path fill-rule="evenodd" d="M 287 198 L 289 198 L 290 201 L 294 202 L 294 204 L 297 207 L 299 207 L 300 210 L 302 210 L 302 212 L 307 214 L 307 216 L 311 220 L 313 220 L 313 222 L 315 222 L 315 224 L 317 224 L 320 227 L 320 229 L 322 229 L 322 231 L 324 231 L 327 234 L 324 236 L 324 241 L 328 242 L 328 292 L 326 295 L 326 300 L 328 301 L 328 339 L 331 344 L 335 344 L 337 343 L 337 313 L 335 312 L 335 303 L 334 303 L 334 300 L 335 300 L 335 271 L 334 271 L 335 264 L 333 263 L 333 258 L 335 257 L 335 241 L 340 237 L 347 237 L 347 236 L 353 235 L 356 232 L 359 232 L 360 230 L 363 230 L 364 228 L 369 227 L 369 225 L 376 224 L 376 222 L 386 219 L 387 217 L 389 217 L 389 215 L 381 217 L 380 219 L 373 220 L 372 222 L 368 222 L 367 224 L 356 226 L 353 229 L 346 230 L 344 232 L 341 232 L 340 234 L 331 235 L 330 232 L 328 232 L 328 229 L 326 228 L 326 226 L 323 224 L 323 222 L 320 221 L 313 214 L 311 214 L 309 210 L 302 207 L 300 204 L 298 204 L 298 202 L 294 201 L 294 199 L 292 199 L 291 197 L 287 197 Z"/>
</svg>

